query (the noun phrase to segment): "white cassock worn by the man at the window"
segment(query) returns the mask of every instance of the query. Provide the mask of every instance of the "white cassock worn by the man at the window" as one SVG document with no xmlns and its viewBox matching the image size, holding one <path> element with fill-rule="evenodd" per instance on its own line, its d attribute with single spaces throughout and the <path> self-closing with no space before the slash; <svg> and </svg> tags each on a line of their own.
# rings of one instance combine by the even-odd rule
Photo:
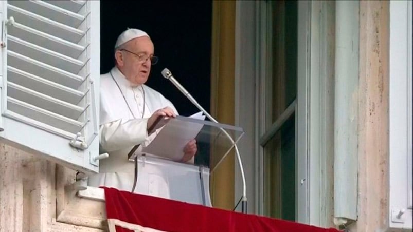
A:
<svg viewBox="0 0 413 232">
<path fill-rule="evenodd" d="M 128 160 L 128 153 L 136 144 L 145 146 L 156 136 L 153 133 L 148 137 L 148 118 L 167 106 L 177 114 L 162 94 L 146 85 L 132 87 L 116 67 L 100 76 L 99 139 L 102 151 L 109 153 L 109 158 L 99 161 L 99 174 L 89 176 L 89 186 L 132 190 L 134 163 Z M 169 198 L 166 175 L 159 168 L 147 166 L 148 175 L 139 174 L 135 192 Z"/>
</svg>

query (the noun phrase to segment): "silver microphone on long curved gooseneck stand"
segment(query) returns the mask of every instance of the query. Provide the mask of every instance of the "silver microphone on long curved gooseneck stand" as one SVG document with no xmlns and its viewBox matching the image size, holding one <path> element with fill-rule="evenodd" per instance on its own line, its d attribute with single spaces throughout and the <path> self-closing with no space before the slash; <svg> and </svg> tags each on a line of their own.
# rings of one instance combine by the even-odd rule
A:
<svg viewBox="0 0 413 232">
<path fill-rule="evenodd" d="M 192 95 L 184 88 L 184 86 L 182 86 L 181 84 L 179 84 L 178 81 L 176 81 L 176 79 L 172 75 L 172 72 L 169 71 L 169 69 L 164 68 L 164 70 L 161 71 L 161 74 L 164 76 L 164 78 L 171 81 L 172 84 L 177 89 L 179 89 L 179 91 L 181 91 L 189 99 L 189 101 L 191 101 L 192 104 L 194 104 L 196 106 L 196 108 L 201 110 L 209 120 L 211 120 L 214 123 L 219 123 L 192 97 Z M 229 138 L 229 140 L 232 142 L 232 144 L 234 144 L 234 147 L 235 147 L 235 153 L 236 153 L 236 156 L 237 156 L 238 165 L 240 166 L 241 176 L 242 176 L 242 184 L 243 184 L 243 194 L 242 194 L 242 198 L 241 198 L 241 206 L 242 206 L 242 212 L 246 213 L 247 212 L 246 182 L 245 182 L 244 167 L 242 165 L 240 152 L 238 150 L 237 144 L 235 144 L 234 140 L 228 134 L 228 132 L 226 130 L 222 129 L 222 128 L 220 128 L 220 129 L 224 132 L 224 134 Z M 219 165 L 219 163 L 217 165 Z"/>
</svg>

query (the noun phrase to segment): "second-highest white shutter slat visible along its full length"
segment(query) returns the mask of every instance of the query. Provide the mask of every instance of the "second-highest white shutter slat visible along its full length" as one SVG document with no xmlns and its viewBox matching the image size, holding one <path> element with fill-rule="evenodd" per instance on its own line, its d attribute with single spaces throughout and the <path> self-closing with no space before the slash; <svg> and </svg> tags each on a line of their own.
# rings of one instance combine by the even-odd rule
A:
<svg viewBox="0 0 413 232">
<path fill-rule="evenodd" d="M 85 50 L 85 47 L 63 40 L 62 38 L 41 32 L 39 30 L 27 27 L 20 23 L 14 23 L 7 28 L 9 35 L 24 38 L 25 41 L 47 48 L 49 50 L 62 53 L 74 59 Z"/>
</svg>

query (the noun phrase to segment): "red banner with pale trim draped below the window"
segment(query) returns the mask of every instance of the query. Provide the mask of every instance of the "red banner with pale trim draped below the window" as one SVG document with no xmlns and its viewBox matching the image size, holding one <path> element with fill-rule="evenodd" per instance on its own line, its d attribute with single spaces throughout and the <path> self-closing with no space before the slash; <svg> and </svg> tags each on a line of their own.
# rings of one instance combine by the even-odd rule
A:
<svg viewBox="0 0 413 232">
<path fill-rule="evenodd" d="M 111 232 L 303 231 L 337 232 L 300 223 L 204 207 L 114 188 L 104 188 Z"/>
</svg>

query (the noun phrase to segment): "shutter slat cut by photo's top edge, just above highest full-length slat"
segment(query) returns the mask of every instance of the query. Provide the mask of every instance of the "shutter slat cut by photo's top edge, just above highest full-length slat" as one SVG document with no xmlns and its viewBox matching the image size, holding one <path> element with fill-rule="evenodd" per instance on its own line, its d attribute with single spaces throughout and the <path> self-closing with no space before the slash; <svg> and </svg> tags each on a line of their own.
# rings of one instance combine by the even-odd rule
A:
<svg viewBox="0 0 413 232">
<path fill-rule="evenodd" d="M 44 1 L 9 1 L 10 5 L 28 10 L 53 21 L 78 28 L 83 22 L 84 16 L 72 11 L 60 8 Z"/>
</svg>

